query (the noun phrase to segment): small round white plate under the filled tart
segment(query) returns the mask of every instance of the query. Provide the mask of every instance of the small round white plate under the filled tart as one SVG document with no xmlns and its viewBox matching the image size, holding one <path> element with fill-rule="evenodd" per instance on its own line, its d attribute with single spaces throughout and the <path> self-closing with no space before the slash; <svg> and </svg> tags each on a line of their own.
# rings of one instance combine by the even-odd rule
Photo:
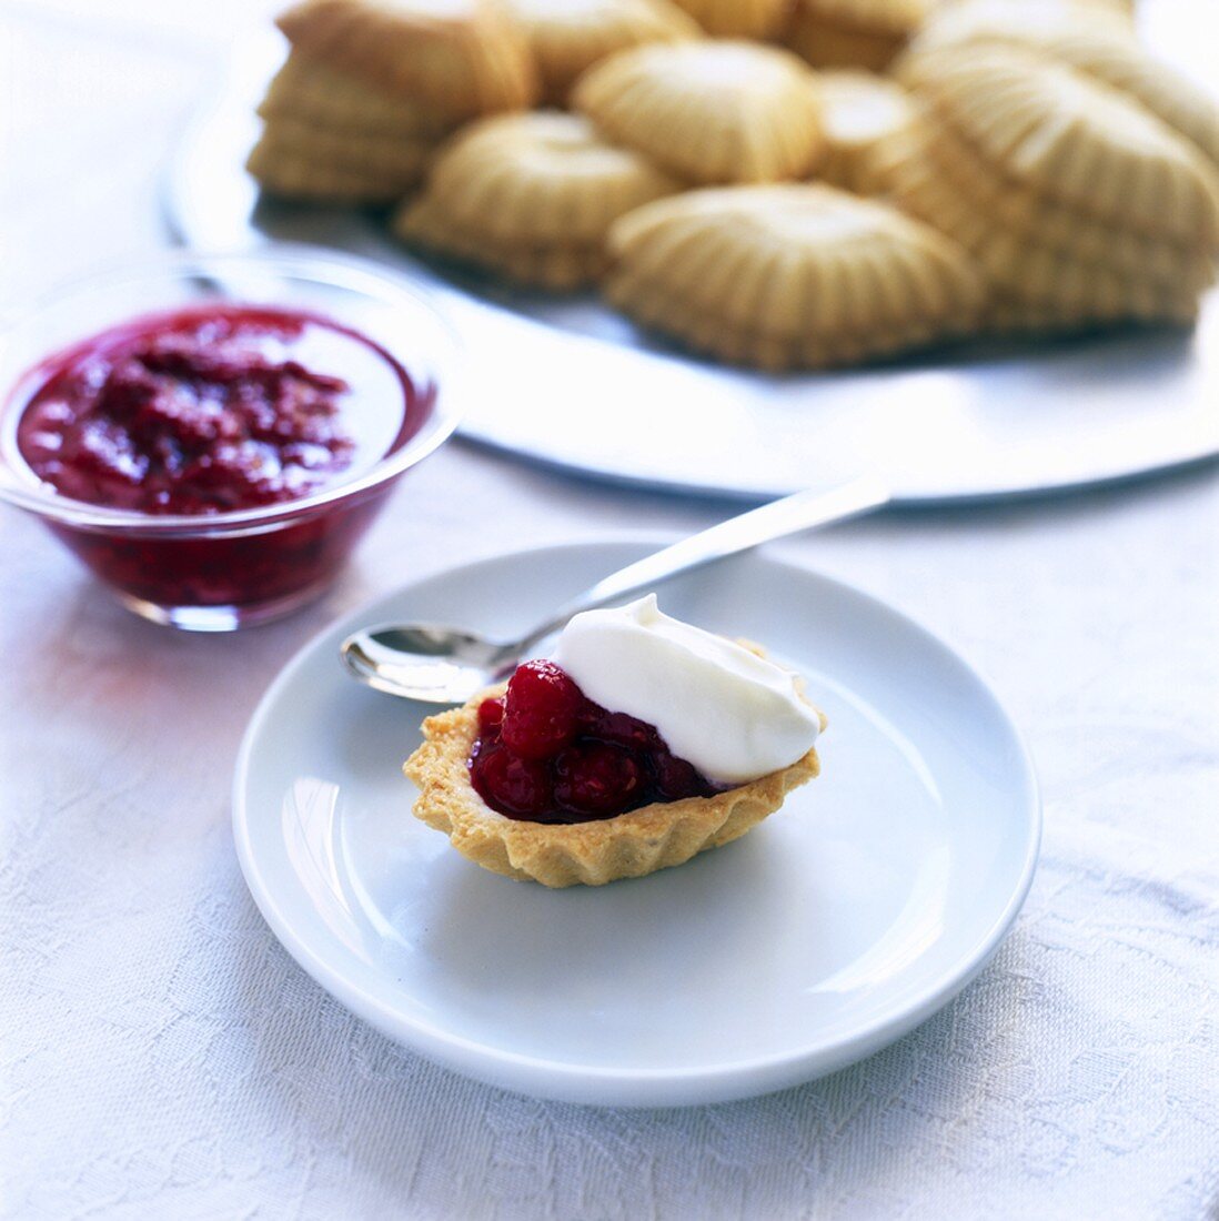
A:
<svg viewBox="0 0 1219 1221">
<path fill-rule="evenodd" d="M 982 680 L 898 612 L 765 554 L 674 581 L 671 612 L 763 641 L 829 717 L 823 775 L 727 847 L 602 888 L 487 873 L 409 812 L 419 705 L 340 640 L 391 619 L 506 635 L 649 549 L 500 557 L 319 636 L 241 750 L 233 828 L 276 937 L 385 1034 L 496 1085 L 667 1106 L 766 1093 L 904 1034 L 987 961 L 1032 878 L 1028 757 Z"/>
</svg>

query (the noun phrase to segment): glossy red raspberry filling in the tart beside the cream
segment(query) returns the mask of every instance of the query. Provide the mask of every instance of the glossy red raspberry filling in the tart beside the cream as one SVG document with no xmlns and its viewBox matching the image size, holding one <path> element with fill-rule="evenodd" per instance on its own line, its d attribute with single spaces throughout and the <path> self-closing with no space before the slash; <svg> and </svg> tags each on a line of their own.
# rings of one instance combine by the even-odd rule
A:
<svg viewBox="0 0 1219 1221">
<path fill-rule="evenodd" d="M 719 789 L 655 725 L 594 703 L 553 662 L 525 662 L 479 706 L 470 750 L 478 795 L 508 818 L 586 823 Z"/>
</svg>

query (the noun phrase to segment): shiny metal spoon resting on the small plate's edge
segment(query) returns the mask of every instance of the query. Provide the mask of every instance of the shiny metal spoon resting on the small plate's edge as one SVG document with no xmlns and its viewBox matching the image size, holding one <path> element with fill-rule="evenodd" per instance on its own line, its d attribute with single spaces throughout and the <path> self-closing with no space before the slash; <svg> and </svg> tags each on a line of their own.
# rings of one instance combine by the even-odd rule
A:
<svg viewBox="0 0 1219 1221">
<path fill-rule="evenodd" d="M 628 564 L 578 593 L 519 640 L 487 640 L 435 624 L 390 624 L 354 632 L 340 646 L 340 653 L 347 669 L 377 691 L 425 703 L 464 703 L 476 691 L 506 679 L 539 641 L 580 610 L 649 590 L 772 538 L 844 521 L 888 499 L 889 490 L 879 480 L 862 476 L 829 492 L 811 488 L 772 501 Z"/>
</svg>

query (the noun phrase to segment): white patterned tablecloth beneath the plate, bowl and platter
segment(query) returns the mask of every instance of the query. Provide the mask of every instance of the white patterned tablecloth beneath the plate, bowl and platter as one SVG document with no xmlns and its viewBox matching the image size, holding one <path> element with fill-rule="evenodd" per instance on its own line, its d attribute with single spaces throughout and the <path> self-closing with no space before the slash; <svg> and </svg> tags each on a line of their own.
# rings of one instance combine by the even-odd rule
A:
<svg viewBox="0 0 1219 1221">
<path fill-rule="evenodd" d="M 232 13 L 246 6 L 231 0 Z M 151 190 L 225 6 L 12 4 L 0 305 L 159 241 Z M 342 584 L 191 637 L 110 603 L 0 514 L 0 1208 L 12 1217 L 1219 1216 L 1219 481 L 889 515 L 779 549 L 987 673 L 1046 797 L 1041 871 L 961 998 L 771 1098 L 539 1103 L 390 1044 L 247 895 L 237 742 L 311 632 L 402 580 L 730 512 L 463 444 Z"/>
</svg>

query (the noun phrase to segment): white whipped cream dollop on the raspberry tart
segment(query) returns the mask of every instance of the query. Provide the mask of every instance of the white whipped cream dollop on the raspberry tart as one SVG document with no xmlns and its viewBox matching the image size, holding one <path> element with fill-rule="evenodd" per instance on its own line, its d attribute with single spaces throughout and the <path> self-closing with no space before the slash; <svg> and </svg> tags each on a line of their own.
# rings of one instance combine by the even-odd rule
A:
<svg viewBox="0 0 1219 1221">
<path fill-rule="evenodd" d="M 717 784 L 795 763 L 821 730 L 790 670 L 671 618 L 655 593 L 575 615 L 551 656 L 594 703 L 655 725 Z"/>
</svg>

